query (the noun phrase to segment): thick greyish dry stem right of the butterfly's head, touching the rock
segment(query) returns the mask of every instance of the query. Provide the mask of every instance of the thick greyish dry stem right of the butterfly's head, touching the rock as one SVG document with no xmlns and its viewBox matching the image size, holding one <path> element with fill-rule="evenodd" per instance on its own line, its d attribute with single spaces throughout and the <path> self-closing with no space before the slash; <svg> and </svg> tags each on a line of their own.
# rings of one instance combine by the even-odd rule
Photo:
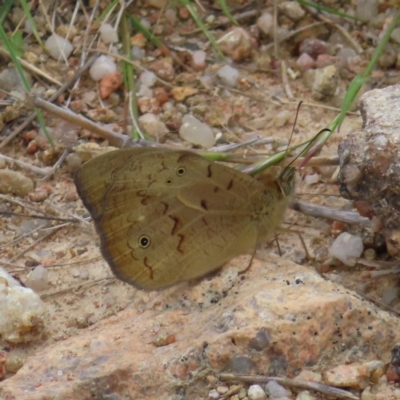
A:
<svg viewBox="0 0 400 400">
<path fill-rule="evenodd" d="M 327 218 L 347 224 L 359 224 L 369 221 L 368 218 L 362 217 L 359 213 L 354 211 L 338 210 L 336 208 L 306 203 L 305 201 L 293 200 L 290 202 L 289 207 L 303 214 L 311 215 L 312 217 Z"/>
</svg>

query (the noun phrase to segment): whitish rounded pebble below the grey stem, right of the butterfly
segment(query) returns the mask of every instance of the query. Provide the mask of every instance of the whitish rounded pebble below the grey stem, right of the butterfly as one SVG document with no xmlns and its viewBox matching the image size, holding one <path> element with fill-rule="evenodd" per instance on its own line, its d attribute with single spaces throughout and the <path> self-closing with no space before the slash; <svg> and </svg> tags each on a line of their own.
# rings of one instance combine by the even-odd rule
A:
<svg viewBox="0 0 400 400">
<path fill-rule="evenodd" d="M 360 257 L 364 249 L 361 237 L 348 232 L 341 233 L 329 249 L 329 255 L 336 257 L 343 264 L 353 267 L 356 265 L 355 257 Z"/>
</svg>

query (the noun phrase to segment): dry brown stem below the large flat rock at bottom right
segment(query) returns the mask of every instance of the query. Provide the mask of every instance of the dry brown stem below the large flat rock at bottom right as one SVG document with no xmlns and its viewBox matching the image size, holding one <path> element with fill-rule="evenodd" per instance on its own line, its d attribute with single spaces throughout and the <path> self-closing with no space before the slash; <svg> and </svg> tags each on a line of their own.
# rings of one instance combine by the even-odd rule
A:
<svg viewBox="0 0 400 400">
<path fill-rule="evenodd" d="M 293 387 L 296 389 L 313 390 L 315 392 L 326 394 L 337 399 L 359 400 L 358 396 L 347 392 L 346 390 L 337 389 L 332 386 L 323 385 L 321 383 L 308 382 L 300 379 L 278 378 L 262 375 L 235 375 L 235 374 L 220 374 L 221 381 L 239 381 L 248 383 L 268 383 L 275 381 L 283 386 Z"/>
</svg>

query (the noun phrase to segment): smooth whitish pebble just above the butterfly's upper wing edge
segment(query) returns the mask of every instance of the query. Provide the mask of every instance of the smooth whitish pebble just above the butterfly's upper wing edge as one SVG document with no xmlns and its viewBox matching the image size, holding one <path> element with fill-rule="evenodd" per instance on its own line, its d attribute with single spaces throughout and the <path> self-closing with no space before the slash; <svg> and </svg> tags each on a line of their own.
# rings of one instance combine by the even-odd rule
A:
<svg viewBox="0 0 400 400">
<path fill-rule="evenodd" d="M 182 118 L 179 136 L 190 143 L 202 146 L 206 149 L 214 146 L 215 137 L 212 129 L 190 114 Z"/>
</svg>

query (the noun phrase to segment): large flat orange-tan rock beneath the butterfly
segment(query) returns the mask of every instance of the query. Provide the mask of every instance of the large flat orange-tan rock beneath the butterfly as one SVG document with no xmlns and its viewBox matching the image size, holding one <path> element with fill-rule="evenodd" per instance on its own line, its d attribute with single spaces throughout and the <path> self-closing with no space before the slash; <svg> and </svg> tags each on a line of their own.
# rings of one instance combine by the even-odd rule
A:
<svg viewBox="0 0 400 400">
<path fill-rule="evenodd" d="M 128 309 L 29 358 L 0 398 L 201 399 L 220 372 L 293 377 L 390 359 L 397 317 L 271 254 L 243 275 L 230 264 L 196 283 L 135 291 Z"/>
</svg>

